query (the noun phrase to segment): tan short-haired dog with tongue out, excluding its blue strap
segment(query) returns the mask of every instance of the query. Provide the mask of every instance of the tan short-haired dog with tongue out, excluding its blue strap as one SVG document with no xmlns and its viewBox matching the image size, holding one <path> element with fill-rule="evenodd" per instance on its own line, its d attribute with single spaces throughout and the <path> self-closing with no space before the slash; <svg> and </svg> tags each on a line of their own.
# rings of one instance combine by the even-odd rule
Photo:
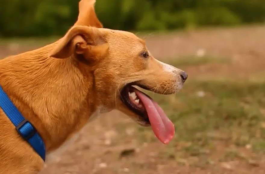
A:
<svg viewBox="0 0 265 174">
<path fill-rule="evenodd" d="M 186 73 L 154 59 L 132 33 L 103 29 L 95 0 L 80 2 L 80 15 L 64 38 L 0 61 L 0 85 L 53 151 L 90 117 L 118 109 L 167 144 L 174 126 L 163 110 L 133 85 L 160 94 L 182 88 Z M 0 98 L 1 100 L 1 98 Z M 0 173 L 35 174 L 44 164 L 0 109 Z"/>
</svg>

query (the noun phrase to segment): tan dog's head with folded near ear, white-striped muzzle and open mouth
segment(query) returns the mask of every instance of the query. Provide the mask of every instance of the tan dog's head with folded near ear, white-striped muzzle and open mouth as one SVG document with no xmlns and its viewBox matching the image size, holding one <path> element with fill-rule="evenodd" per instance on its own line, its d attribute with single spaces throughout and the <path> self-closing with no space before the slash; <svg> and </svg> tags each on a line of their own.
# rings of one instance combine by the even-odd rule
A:
<svg viewBox="0 0 265 174">
<path fill-rule="evenodd" d="M 133 33 L 76 25 L 59 41 L 50 56 L 73 59 L 84 76 L 92 77 L 87 80 L 93 83 L 95 107 L 118 109 L 143 126 L 163 123 L 164 127 L 172 129 L 171 123 L 165 123 L 168 120 L 161 116 L 164 112 L 157 103 L 133 86 L 159 94 L 173 94 L 182 88 L 187 74 L 156 60 L 145 41 Z M 153 130 L 158 128 L 161 127 L 154 126 Z M 168 142 L 169 138 L 158 136 L 162 142 Z"/>
</svg>

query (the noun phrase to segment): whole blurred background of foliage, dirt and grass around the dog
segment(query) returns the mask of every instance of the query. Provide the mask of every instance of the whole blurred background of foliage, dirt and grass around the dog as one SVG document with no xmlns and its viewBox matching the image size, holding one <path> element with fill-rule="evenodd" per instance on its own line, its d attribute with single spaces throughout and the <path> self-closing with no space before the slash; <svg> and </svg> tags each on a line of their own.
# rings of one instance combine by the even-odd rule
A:
<svg viewBox="0 0 265 174">
<path fill-rule="evenodd" d="M 78 16 L 78 0 L 1 4 L 0 58 L 54 42 Z M 264 0 L 97 0 L 96 12 L 189 74 L 176 95 L 149 92 L 176 137 L 165 146 L 113 111 L 52 154 L 42 174 L 264 174 Z"/>
</svg>

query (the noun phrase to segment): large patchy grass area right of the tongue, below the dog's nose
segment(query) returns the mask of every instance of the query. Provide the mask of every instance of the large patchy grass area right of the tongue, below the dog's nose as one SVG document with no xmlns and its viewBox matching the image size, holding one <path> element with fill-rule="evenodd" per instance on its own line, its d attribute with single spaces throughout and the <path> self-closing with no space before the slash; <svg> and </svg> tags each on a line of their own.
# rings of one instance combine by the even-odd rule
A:
<svg viewBox="0 0 265 174">
<path fill-rule="evenodd" d="M 263 152 L 264 89 L 263 83 L 209 80 L 188 81 L 177 95 L 165 97 L 149 93 L 176 126 L 176 138 L 165 155 L 175 157 L 174 153 L 179 153 L 176 147 L 179 147 L 188 156 L 203 156 L 215 150 L 215 141 L 238 148 L 251 144 L 254 151 Z M 154 141 L 148 129 L 139 130 L 144 137 L 142 141 Z M 225 160 L 239 157 L 236 151 L 226 153 Z"/>
</svg>

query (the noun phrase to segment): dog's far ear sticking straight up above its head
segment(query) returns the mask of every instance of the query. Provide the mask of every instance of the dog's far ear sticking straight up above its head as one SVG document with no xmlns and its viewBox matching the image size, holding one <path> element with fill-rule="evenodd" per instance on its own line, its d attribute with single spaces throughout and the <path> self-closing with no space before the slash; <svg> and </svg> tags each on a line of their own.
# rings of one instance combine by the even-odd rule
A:
<svg viewBox="0 0 265 174">
<path fill-rule="evenodd" d="M 79 16 L 75 26 L 84 25 L 103 28 L 95 12 L 95 2 L 96 0 L 81 0 L 79 2 Z"/>
</svg>

